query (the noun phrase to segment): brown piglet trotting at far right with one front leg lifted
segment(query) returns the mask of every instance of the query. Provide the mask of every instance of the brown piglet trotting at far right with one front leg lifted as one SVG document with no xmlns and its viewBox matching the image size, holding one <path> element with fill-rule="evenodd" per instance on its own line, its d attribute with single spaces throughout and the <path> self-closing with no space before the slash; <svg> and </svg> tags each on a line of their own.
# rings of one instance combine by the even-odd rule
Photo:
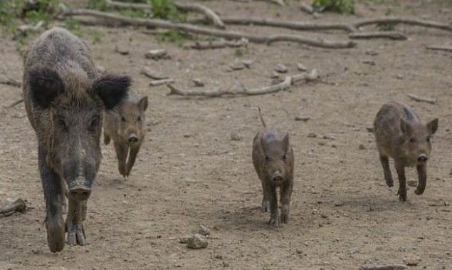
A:
<svg viewBox="0 0 452 270">
<path fill-rule="evenodd" d="M 412 108 L 402 103 L 390 102 L 382 106 L 374 120 L 374 135 L 382 162 L 384 180 L 388 187 L 394 185 L 389 160 L 399 177 L 399 199 L 406 201 L 405 167 L 416 166 L 419 182 L 415 194 L 424 193 L 427 180 L 427 160 L 431 152 L 431 135 L 438 129 L 438 118 L 422 123 Z"/>
</svg>

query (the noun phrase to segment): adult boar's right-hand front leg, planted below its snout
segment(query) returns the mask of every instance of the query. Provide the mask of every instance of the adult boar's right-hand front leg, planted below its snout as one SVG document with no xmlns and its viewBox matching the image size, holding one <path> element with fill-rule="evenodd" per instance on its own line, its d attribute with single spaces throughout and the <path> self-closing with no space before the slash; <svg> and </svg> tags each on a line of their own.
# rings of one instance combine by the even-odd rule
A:
<svg viewBox="0 0 452 270">
<path fill-rule="evenodd" d="M 86 235 L 83 221 L 86 217 L 86 200 L 78 201 L 69 199 L 68 217 L 66 218 L 66 229 L 68 230 L 68 244 L 71 246 L 85 246 Z"/>
</svg>

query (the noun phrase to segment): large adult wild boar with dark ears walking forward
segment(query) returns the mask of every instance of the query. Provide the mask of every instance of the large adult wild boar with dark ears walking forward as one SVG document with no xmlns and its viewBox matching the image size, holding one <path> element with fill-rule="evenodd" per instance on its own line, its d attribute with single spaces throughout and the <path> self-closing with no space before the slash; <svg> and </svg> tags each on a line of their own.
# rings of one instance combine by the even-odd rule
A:
<svg viewBox="0 0 452 270">
<path fill-rule="evenodd" d="M 103 111 L 127 93 L 127 76 L 99 76 L 90 50 L 63 28 L 51 28 L 28 49 L 23 99 L 38 138 L 38 166 L 46 199 L 52 252 L 84 245 L 86 202 L 99 169 Z M 62 204 L 68 196 L 68 216 Z"/>
</svg>

